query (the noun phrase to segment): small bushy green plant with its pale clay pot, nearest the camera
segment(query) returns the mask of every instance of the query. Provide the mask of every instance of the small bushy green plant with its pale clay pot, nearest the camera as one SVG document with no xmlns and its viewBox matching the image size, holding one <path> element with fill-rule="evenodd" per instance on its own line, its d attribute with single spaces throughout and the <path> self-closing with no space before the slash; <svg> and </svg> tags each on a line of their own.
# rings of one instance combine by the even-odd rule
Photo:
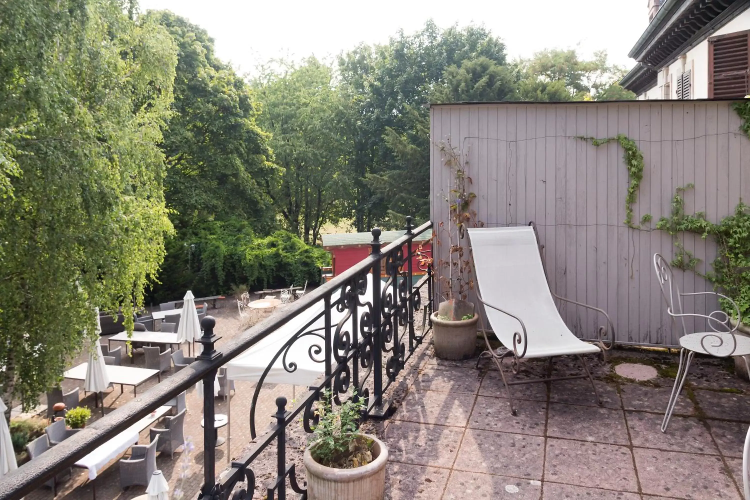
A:
<svg viewBox="0 0 750 500">
<path fill-rule="evenodd" d="M 332 409 L 323 391 L 318 423 L 305 450 L 308 500 L 382 500 L 386 488 L 388 448 L 375 436 L 361 433 L 357 421 L 365 400 L 352 399 Z"/>
</svg>

